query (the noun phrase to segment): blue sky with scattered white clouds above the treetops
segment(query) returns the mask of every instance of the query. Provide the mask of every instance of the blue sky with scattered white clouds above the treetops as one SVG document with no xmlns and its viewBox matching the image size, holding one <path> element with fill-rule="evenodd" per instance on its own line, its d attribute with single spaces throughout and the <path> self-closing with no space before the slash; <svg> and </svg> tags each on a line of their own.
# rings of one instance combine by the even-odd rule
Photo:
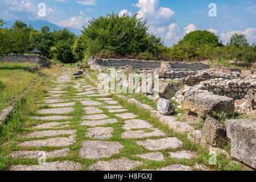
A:
<svg viewBox="0 0 256 182">
<path fill-rule="evenodd" d="M 46 16 L 38 16 L 38 4 L 46 5 Z M 208 7 L 215 3 L 217 16 Z M 0 18 L 42 19 L 61 27 L 81 29 L 89 19 L 107 13 L 123 13 L 148 19 L 149 30 L 171 46 L 185 34 L 208 30 L 226 43 L 235 32 L 256 42 L 256 0 L 1 0 Z"/>
</svg>

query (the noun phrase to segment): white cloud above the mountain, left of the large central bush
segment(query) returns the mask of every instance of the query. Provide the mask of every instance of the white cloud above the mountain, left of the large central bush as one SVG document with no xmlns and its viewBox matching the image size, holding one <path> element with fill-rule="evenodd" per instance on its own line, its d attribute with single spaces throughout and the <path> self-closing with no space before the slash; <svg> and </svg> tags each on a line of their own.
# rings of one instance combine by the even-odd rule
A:
<svg viewBox="0 0 256 182">
<path fill-rule="evenodd" d="M 57 25 L 60 27 L 71 27 L 82 30 L 82 26 L 89 20 L 90 18 L 85 17 L 85 15 L 80 11 L 79 16 L 73 16 L 72 18 L 66 19 L 63 22 L 57 23 Z"/>
</svg>

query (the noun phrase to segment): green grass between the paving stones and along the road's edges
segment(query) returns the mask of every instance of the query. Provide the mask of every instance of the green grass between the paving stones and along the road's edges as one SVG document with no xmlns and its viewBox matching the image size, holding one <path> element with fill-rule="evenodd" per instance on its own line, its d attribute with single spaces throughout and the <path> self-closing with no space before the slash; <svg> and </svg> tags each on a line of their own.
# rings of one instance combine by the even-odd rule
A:
<svg viewBox="0 0 256 182">
<path fill-rule="evenodd" d="M 86 78 L 85 78 L 86 80 Z M 88 79 L 87 79 L 88 80 Z M 76 80 L 73 82 L 68 82 L 70 85 L 75 85 L 75 82 L 81 82 L 81 80 Z M 89 84 L 93 84 L 92 82 L 88 82 Z M 22 101 L 20 101 L 19 106 L 15 109 L 13 115 L 11 115 L 11 118 L 7 122 L 5 126 L 1 129 L 1 138 L 0 138 L 0 169 L 4 170 L 11 164 L 26 164 L 26 165 L 36 165 L 38 164 L 38 160 L 36 159 L 11 159 L 9 158 L 9 153 L 11 151 L 18 151 L 18 150 L 43 150 L 43 151 L 54 151 L 54 150 L 61 150 L 63 148 L 69 148 L 71 152 L 66 157 L 59 157 L 59 158 L 52 158 L 47 159 L 47 162 L 55 162 L 55 161 L 63 161 L 63 160 L 71 160 L 73 162 L 79 162 L 82 164 L 82 170 L 88 169 L 88 167 L 95 163 L 97 160 L 93 159 L 83 159 L 79 155 L 79 151 L 81 148 L 81 143 L 84 140 L 99 140 L 99 139 L 92 139 L 86 137 L 86 133 L 90 126 L 80 126 L 80 123 L 82 121 L 81 117 L 85 114 L 85 111 L 83 107 L 84 105 L 81 104 L 80 101 L 74 101 L 73 98 L 77 97 L 76 93 L 77 90 L 73 88 L 73 86 L 68 86 L 67 88 L 64 88 L 64 91 L 68 91 L 68 93 L 63 94 L 60 98 L 68 98 L 68 102 L 76 102 L 74 106 L 71 106 L 74 108 L 72 113 L 68 114 L 37 114 L 37 110 L 39 107 L 36 106 L 36 104 L 43 104 L 43 97 L 49 96 L 46 93 L 46 86 L 47 88 L 51 88 L 53 85 L 55 85 L 53 82 L 44 82 L 43 80 L 40 80 L 40 82 L 37 82 L 35 86 L 32 87 L 30 92 L 27 93 L 26 97 Z M 94 85 L 94 84 L 93 84 Z M 95 86 L 95 85 L 94 85 Z M 101 158 L 98 160 L 111 160 L 111 159 L 119 159 L 122 157 L 129 158 L 131 160 L 138 160 L 143 162 L 141 166 L 135 167 L 134 170 L 141 170 L 141 169 L 158 169 L 162 168 L 164 166 L 169 166 L 173 164 L 183 164 L 185 166 L 191 166 L 193 169 L 196 169 L 194 166 L 197 163 L 205 164 L 205 166 L 208 166 L 211 169 L 217 169 L 217 170 L 241 170 L 242 166 L 240 164 L 230 164 L 230 160 L 226 159 L 222 154 L 217 156 L 217 165 L 211 166 L 208 164 L 208 160 L 210 156 L 208 155 L 208 151 L 205 150 L 205 148 L 196 146 L 192 142 L 190 142 L 187 139 L 187 134 L 179 134 L 175 133 L 167 125 L 164 125 L 163 123 L 159 122 L 157 119 L 151 117 L 150 112 L 144 109 L 139 109 L 135 104 L 129 104 L 126 100 L 123 100 L 121 98 L 118 98 L 114 94 L 112 94 L 112 97 L 114 100 L 119 101 L 119 103 L 127 109 L 127 111 L 122 112 L 130 112 L 138 114 L 138 117 L 135 119 L 143 119 L 144 121 L 150 122 L 155 128 L 158 128 L 163 131 L 167 136 L 166 137 L 177 137 L 183 141 L 183 146 L 178 149 L 165 149 L 165 150 L 159 150 L 159 152 L 162 152 L 165 159 L 162 162 L 147 160 L 138 158 L 136 155 L 138 154 L 146 154 L 147 152 L 152 152 L 150 150 L 147 150 L 146 148 L 139 146 L 136 141 L 137 140 L 146 140 L 148 138 L 150 139 L 159 139 L 164 137 L 148 137 L 148 138 L 142 138 L 142 139 L 128 139 L 128 138 L 122 138 L 121 134 L 125 131 L 122 126 L 125 124 L 126 119 L 119 118 L 115 116 L 114 113 L 109 113 L 107 109 L 104 109 L 100 106 L 99 109 L 103 110 L 102 114 L 106 114 L 109 116 L 109 118 L 115 118 L 117 119 L 117 123 L 113 124 L 106 124 L 104 127 L 113 127 L 113 137 L 109 139 L 104 139 L 104 141 L 116 141 L 122 144 L 123 148 L 118 154 L 114 154 L 110 156 L 109 158 Z M 81 98 L 90 98 L 92 101 L 98 101 L 102 104 L 105 104 L 104 101 L 96 100 L 97 97 L 86 97 L 81 96 Z M 140 99 L 140 96 L 137 96 L 138 100 Z M 144 98 L 143 98 L 144 100 Z M 148 101 L 144 104 L 148 104 Z M 109 104 L 105 104 L 109 105 Z M 150 105 L 150 104 L 148 104 Z M 49 107 L 46 107 L 49 108 Z M 68 115 L 72 116 L 72 119 L 64 119 L 64 120 L 58 120 L 58 121 L 38 121 L 36 119 L 30 118 L 31 115 L 38 115 L 38 116 L 46 116 L 46 115 Z M 63 129 L 51 129 L 51 130 L 76 130 L 76 143 L 72 144 L 68 147 L 18 147 L 16 144 L 24 141 L 34 140 L 34 139 L 48 139 L 48 138 L 55 138 L 55 137 L 43 137 L 43 138 L 22 138 L 17 137 L 22 136 L 24 134 L 28 134 L 31 131 L 43 131 L 48 129 L 32 129 L 33 126 L 48 123 L 48 122 L 59 122 L 61 125 L 61 122 L 69 121 L 69 126 L 65 127 Z M 60 136 L 57 136 L 60 137 Z M 69 135 L 61 135 L 61 137 L 69 137 Z M 181 150 L 191 150 L 195 151 L 197 153 L 196 158 L 192 159 L 174 159 L 170 158 L 170 155 L 168 152 L 175 152 L 175 151 L 181 151 Z M 154 151 L 158 152 L 158 151 Z"/>
</svg>

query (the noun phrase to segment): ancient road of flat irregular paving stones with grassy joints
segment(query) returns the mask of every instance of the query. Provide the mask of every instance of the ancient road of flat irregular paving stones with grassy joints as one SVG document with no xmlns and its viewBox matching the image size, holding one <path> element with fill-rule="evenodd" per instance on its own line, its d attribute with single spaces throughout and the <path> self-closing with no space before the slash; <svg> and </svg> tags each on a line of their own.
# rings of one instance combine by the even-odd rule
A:
<svg viewBox="0 0 256 182">
<path fill-rule="evenodd" d="M 197 169 L 179 164 L 179 160 L 196 158 L 181 148 L 180 139 L 167 137 L 118 101 L 101 97 L 88 82 L 72 80 L 71 75 L 68 71 L 50 80 L 52 87 L 43 103 L 47 109 L 31 116 L 40 124 L 20 136 L 20 150 L 10 154 L 10 158 L 34 159 L 34 163 L 13 165 L 9 170 L 131 170 L 153 162 L 162 165 L 157 170 Z M 46 163 L 36 164 L 42 156 Z M 177 159 L 175 164 L 163 166 L 171 159 Z"/>
</svg>

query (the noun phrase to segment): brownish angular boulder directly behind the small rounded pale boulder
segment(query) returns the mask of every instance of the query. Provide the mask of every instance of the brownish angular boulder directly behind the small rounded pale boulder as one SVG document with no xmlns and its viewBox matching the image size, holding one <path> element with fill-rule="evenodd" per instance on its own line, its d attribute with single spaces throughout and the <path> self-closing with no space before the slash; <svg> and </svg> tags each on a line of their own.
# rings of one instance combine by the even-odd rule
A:
<svg viewBox="0 0 256 182">
<path fill-rule="evenodd" d="M 159 88 L 157 88 L 157 84 L 154 87 L 154 92 L 159 92 L 160 96 L 163 97 L 172 97 L 177 92 L 177 88 L 171 84 L 170 82 L 166 82 L 163 80 L 159 80 Z"/>
</svg>

